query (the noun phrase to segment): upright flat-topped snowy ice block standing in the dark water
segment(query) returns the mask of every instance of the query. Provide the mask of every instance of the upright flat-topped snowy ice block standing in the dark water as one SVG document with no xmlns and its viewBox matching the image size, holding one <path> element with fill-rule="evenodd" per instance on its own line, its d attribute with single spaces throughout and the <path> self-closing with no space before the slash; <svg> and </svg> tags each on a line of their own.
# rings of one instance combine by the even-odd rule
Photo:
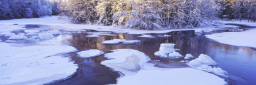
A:
<svg viewBox="0 0 256 85">
<path fill-rule="evenodd" d="M 167 54 L 172 53 L 175 51 L 173 43 L 161 43 L 159 51 L 155 52 L 154 55 L 161 56 L 161 57 L 167 57 Z"/>
</svg>

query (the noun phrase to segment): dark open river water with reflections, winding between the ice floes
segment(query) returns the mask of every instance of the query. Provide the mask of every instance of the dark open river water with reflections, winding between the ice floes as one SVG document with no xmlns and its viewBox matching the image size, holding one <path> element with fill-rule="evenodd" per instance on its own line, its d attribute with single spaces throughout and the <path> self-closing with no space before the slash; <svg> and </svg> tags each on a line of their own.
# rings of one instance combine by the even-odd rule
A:
<svg viewBox="0 0 256 85">
<path fill-rule="evenodd" d="M 89 32 L 97 32 L 88 30 Z M 164 68 L 186 67 L 184 63 L 177 63 L 182 59 L 168 59 L 154 56 L 154 52 L 159 50 L 161 43 L 175 43 L 177 52 L 185 56 L 192 54 L 199 56 L 207 54 L 219 63 L 218 67 L 230 73 L 230 80 L 233 84 L 255 84 L 256 81 L 256 51 L 248 47 L 234 47 L 224 45 L 205 38 L 204 35 L 196 35 L 195 31 L 173 31 L 164 34 L 148 34 L 156 38 L 140 38 L 138 35 L 116 34 L 116 36 L 101 36 L 99 38 L 88 38 L 86 33 L 72 34 L 72 39 L 68 40 L 69 45 L 78 50 L 99 49 L 106 53 L 113 49 L 135 49 L 147 54 L 156 66 Z M 170 37 L 160 37 L 162 35 L 172 35 Z M 113 39 L 141 40 L 140 43 L 133 45 L 102 45 L 101 42 Z M 56 84 L 115 84 L 116 78 L 120 75 L 111 71 L 106 66 L 100 65 L 101 61 L 106 60 L 104 55 L 83 59 L 72 54 L 72 60 L 79 65 L 77 75 L 66 81 Z"/>
</svg>

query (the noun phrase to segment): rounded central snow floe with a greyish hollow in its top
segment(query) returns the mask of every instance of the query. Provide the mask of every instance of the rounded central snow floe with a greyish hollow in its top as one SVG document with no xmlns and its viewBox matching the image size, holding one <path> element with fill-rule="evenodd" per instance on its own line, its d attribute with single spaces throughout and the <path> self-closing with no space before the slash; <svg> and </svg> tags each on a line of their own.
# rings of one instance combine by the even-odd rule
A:
<svg viewBox="0 0 256 85">
<path fill-rule="evenodd" d="M 137 72 L 144 63 L 150 61 L 147 55 L 138 50 L 118 49 L 111 51 L 111 53 L 104 55 L 109 60 L 102 61 L 101 64 L 124 74 Z"/>
</svg>

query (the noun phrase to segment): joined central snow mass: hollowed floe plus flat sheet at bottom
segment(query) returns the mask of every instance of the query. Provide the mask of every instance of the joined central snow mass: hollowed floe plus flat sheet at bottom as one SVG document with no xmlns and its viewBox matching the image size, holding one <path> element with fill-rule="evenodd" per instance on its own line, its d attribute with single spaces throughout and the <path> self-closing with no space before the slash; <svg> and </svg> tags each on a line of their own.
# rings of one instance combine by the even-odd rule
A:
<svg viewBox="0 0 256 85">
<path fill-rule="evenodd" d="M 223 85 L 227 82 L 220 77 L 193 68 L 157 68 L 147 63 L 150 58 L 143 52 L 132 49 L 112 50 L 105 54 L 109 60 L 101 64 L 121 72 L 117 84 L 212 84 Z M 185 82 L 184 82 L 185 81 Z"/>
</svg>

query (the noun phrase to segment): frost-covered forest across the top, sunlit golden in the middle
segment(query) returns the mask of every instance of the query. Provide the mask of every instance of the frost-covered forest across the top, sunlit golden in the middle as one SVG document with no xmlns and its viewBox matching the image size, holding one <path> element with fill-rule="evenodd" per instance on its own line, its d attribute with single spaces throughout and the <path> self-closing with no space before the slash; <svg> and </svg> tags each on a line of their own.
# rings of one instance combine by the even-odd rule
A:
<svg viewBox="0 0 256 85">
<path fill-rule="evenodd" d="M 0 20 L 67 15 L 77 24 L 133 29 L 204 26 L 218 19 L 256 20 L 255 0 L 0 0 Z"/>
</svg>

